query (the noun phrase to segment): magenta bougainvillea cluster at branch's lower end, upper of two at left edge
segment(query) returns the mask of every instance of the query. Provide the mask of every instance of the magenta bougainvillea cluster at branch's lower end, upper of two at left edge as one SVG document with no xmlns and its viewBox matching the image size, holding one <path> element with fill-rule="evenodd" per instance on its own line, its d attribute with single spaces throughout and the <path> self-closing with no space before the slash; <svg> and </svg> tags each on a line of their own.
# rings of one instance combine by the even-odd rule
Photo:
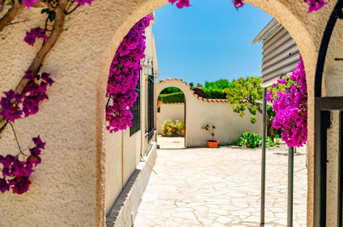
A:
<svg viewBox="0 0 343 227">
<path fill-rule="evenodd" d="M 3 92 L 5 96 L 0 100 L 0 115 L 10 122 L 22 118 L 23 114 L 25 117 L 36 114 L 39 110 L 39 103 L 48 99 L 47 86 L 54 83 L 47 72 L 38 75 L 27 71 L 23 78 L 30 80 L 23 94 L 18 94 L 11 89 Z"/>
</svg>

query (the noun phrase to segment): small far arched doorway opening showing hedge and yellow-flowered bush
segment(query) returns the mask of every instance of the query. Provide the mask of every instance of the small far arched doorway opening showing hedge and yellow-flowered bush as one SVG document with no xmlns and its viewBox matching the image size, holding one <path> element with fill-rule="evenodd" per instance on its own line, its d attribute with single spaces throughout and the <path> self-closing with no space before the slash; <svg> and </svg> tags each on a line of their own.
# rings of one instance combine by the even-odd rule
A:
<svg viewBox="0 0 343 227">
<path fill-rule="evenodd" d="M 157 96 L 157 147 L 186 147 L 186 98 L 177 87 L 166 87 Z"/>
</svg>

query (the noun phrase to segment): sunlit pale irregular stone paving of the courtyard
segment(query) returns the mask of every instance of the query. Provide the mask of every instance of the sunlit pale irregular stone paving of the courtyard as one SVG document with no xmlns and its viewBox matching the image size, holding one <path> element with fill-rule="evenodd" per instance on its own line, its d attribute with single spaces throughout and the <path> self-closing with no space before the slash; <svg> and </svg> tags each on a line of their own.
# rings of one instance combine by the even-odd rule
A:
<svg viewBox="0 0 343 227">
<path fill-rule="evenodd" d="M 259 226 L 261 149 L 158 151 L 135 219 L 144 226 Z M 278 153 L 278 154 L 276 154 Z M 281 153 L 281 154 L 280 154 Z M 294 156 L 294 226 L 306 226 L 306 150 Z M 266 226 L 287 224 L 287 147 L 267 151 Z"/>
</svg>

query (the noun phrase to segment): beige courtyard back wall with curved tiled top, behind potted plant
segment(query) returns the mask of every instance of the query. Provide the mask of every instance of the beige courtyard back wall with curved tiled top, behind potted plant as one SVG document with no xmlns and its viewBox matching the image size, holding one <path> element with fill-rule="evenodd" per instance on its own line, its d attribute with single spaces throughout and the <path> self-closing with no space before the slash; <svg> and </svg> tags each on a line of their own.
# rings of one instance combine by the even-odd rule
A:
<svg viewBox="0 0 343 227">
<path fill-rule="evenodd" d="M 157 94 L 166 87 L 178 87 L 185 94 L 186 147 L 206 146 L 206 140 L 211 140 L 212 137 L 208 131 L 201 130 L 201 127 L 205 125 L 214 125 L 216 127 L 214 139 L 219 140 L 220 144 L 235 143 L 239 139 L 239 136 L 245 131 L 258 134 L 261 134 L 262 132 L 262 118 L 259 113 L 257 113 L 256 116 L 258 119 L 257 122 L 252 124 L 248 111 L 245 111 L 245 117 L 241 118 L 239 114 L 232 111 L 232 105 L 230 105 L 230 103 L 214 102 L 214 100 L 199 98 L 194 94 L 194 91 L 192 91 L 190 86 L 182 80 L 162 80 L 157 84 Z M 161 113 L 157 113 L 157 126 L 160 128 L 159 124 L 162 124 L 166 117 L 170 117 L 167 119 L 173 120 L 179 119 L 176 117 L 181 116 L 181 111 L 184 111 L 184 109 L 179 108 L 179 106 L 181 105 L 162 105 Z"/>
</svg>

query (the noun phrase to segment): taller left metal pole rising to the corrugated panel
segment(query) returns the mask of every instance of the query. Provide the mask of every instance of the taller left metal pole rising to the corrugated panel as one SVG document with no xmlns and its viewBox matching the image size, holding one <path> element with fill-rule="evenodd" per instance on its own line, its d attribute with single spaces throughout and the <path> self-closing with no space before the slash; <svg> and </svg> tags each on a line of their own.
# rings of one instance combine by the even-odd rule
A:
<svg viewBox="0 0 343 227">
<path fill-rule="evenodd" d="M 267 88 L 263 87 L 263 107 L 262 107 L 262 158 L 261 158 L 261 223 L 265 226 L 265 138 L 267 134 Z"/>
</svg>

